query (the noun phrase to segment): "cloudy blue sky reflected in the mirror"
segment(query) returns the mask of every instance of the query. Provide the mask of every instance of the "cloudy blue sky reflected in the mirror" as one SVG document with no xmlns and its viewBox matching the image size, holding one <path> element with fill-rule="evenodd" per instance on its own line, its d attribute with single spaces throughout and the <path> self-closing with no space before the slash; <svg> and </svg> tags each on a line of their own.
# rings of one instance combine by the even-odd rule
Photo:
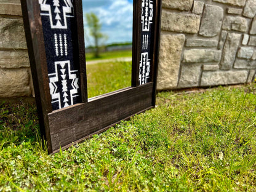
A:
<svg viewBox="0 0 256 192">
<path fill-rule="evenodd" d="M 82 0 L 86 47 L 93 44 L 86 30 L 85 14 L 94 12 L 102 23 L 102 33 L 108 36 L 105 44 L 132 42 L 132 0 Z"/>
</svg>

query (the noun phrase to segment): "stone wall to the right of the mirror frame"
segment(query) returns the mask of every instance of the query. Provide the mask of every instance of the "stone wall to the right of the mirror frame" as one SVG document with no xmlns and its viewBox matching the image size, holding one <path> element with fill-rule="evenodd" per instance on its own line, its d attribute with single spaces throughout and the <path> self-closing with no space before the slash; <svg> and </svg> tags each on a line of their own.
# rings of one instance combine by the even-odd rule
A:
<svg viewBox="0 0 256 192">
<path fill-rule="evenodd" d="M 162 0 L 158 90 L 255 79 L 256 0 Z"/>
</svg>

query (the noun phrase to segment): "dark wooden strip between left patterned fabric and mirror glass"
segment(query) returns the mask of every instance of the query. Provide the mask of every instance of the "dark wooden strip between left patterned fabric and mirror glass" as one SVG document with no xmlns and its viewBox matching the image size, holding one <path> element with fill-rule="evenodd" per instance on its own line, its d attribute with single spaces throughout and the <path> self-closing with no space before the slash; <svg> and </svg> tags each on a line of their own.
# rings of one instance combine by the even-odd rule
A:
<svg viewBox="0 0 256 192">
<path fill-rule="evenodd" d="M 86 51 L 84 46 L 84 21 L 82 13 L 82 1 L 74 1 L 74 13 L 76 14 L 76 26 L 78 31 L 78 55 L 79 58 L 79 75 L 80 75 L 80 87 L 82 95 L 82 103 L 86 103 L 88 100 L 87 94 L 87 78 L 86 78 Z"/>
</svg>

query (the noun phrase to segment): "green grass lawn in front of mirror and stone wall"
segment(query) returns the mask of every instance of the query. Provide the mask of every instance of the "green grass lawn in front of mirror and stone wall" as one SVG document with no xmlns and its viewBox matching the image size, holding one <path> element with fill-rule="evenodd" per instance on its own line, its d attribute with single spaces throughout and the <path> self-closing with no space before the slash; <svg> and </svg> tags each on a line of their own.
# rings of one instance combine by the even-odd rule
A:
<svg viewBox="0 0 256 192">
<path fill-rule="evenodd" d="M 158 107 L 48 155 L 35 105 L 0 107 L 0 191 L 256 191 L 256 85 Z"/>
</svg>

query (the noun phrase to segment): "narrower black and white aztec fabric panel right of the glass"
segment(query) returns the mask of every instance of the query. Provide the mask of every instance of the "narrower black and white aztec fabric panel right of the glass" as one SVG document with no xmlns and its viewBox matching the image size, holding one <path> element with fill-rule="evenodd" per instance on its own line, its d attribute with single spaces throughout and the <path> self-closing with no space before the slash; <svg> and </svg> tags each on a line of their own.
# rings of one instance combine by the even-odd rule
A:
<svg viewBox="0 0 256 192">
<path fill-rule="evenodd" d="M 142 41 L 140 50 L 140 85 L 151 81 L 150 71 L 152 62 L 151 42 L 153 42 L 153 12 L 154 0 L 142 0 Z"/>
</svg>

